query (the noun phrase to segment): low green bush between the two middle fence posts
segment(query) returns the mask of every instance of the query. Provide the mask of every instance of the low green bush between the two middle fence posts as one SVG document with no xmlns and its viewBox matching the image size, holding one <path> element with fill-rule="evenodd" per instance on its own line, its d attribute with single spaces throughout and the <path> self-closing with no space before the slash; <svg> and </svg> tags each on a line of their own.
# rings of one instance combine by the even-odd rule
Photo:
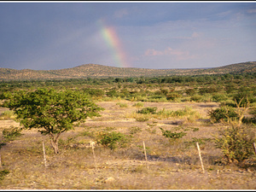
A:
<svg viewBox="0 0 256 192">
<path fill-rule="evenodd" d="M 127 137 L 120 132 L 100 132 L 97 136 L 96 143 L 110 149 L 125 147 Z"/>
</svg>

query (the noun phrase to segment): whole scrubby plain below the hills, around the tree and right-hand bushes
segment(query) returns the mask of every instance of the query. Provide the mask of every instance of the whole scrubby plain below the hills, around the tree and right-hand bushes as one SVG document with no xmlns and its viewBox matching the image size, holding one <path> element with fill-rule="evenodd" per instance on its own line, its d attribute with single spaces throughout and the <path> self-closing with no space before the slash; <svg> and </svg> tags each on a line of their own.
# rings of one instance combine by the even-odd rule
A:
<svg viewBox="0 0 256 192">
<path fill-rule="evenodd" d="M 209 113 L 247 96 L 242 124 L 255 135 L 255 74 L 0 83 L 38 87 L 84 92 L 104 110 L 63 132 L 55 154 L 36 129 L 7 137 L 20 124 L 0 108 L 0 189 L 256 189 L 256 155 L 226 163 L 215 138 L 227 125 Z"/>
</svg>

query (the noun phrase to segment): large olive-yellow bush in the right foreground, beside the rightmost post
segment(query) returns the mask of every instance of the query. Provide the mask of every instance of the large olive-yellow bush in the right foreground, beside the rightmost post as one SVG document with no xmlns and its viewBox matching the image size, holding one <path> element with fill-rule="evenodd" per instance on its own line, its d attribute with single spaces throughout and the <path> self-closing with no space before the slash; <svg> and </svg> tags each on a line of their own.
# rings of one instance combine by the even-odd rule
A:
<svg viewBox="0 0 256 192">
<path fill-rule="evenodd" d="M 220 137 L 215 137 L 214 142 L 224 154 L 227 163 L 242 163 L 253 155 L 255 132 L 248 127 L 232 125 L 219 131 Z"/>
</svg>

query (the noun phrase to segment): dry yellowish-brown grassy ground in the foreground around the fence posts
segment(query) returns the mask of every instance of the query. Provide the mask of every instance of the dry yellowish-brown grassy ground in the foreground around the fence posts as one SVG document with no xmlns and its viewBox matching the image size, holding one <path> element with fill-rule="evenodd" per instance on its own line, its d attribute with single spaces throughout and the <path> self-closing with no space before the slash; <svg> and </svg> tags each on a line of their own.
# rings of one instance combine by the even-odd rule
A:
<svg viewBox="0 0 256 192">
<path fill-rule="evenodd" d="M 98 102 L 105 108 L 102 117 L 88 119 L 75 131 L 64 133 L 59 155 L 50 148 L 47 136 L 35 130 L 22 131 L 24 135 L 0 149 L 2 169 L 9 170 L 0 189 L 256 189 L 255 160 L 248 169 L 219 163 L 222 154 L 212 143 L 219 125 L 207 123 L 207 110 L 218 108 L 218 103 L 143 102 L 143 108 L 192 108 L 196 114 L 190 119 L 189 115 L 151 115 L 147 121 L 137 121 L 131 115 L 138 109 L 135 103 Z M 9 125 L 17 123 L 1 120 L 0 133 Z M 189 131 L 185 137 L 170 141 L 162 136 L 160 127 Z M 99 131 L 122 132 L 129 137 L 129 144 L 115 150 L 96 145 L 96 170 L 89 143 Z M 195 140 L 200 141 L 205 173 L 201 172 Z M 44 167 L 43 141 L 48 167 Z"/>
</svg>

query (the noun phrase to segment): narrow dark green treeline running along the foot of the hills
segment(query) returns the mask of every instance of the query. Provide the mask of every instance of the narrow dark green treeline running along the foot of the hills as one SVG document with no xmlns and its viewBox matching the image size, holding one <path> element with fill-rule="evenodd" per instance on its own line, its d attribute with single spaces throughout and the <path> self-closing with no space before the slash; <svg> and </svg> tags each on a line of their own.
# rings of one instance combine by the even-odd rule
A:
<svg viewBox="0 0 256 192">
<path fill-rule="evenodd" d="M 223 83 L 224 81 L 239 81 L 245 79 L 256 79 L 256 73 L 227 73 L 213 75 L 195 76 L 165 76 L 165 77 L 140 77 L 140 78 L 87 78 L 87 79 L 49 79 L 49 80 L 0 80 L 0 88 L 3 87 L 32 87 L 32 86 L 60 86 L 81 84 L 114 84 L 114 83 L 136 83 L 136 84 L 172 84 L 179 83 Z"/>
</svg>

